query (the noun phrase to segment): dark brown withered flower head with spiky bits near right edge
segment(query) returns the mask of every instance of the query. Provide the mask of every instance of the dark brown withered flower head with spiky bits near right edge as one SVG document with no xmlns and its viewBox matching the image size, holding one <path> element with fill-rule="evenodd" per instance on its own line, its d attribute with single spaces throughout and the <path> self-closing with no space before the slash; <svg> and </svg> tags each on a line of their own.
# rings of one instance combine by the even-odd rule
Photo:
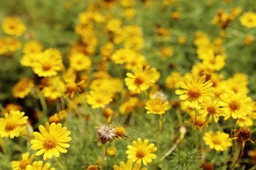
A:
<svg viewBox="0 0 256 170">
<path fill-rule="evenodd" d="M 238 140 L 238 144 L 242 145 L 243 147 L 245 146 L 245 142 L 248 140 L 252 143 L 254 143 L 250 137 L 252 136 L 252 131 L 247 128 L 247 127 L 242 127 L 237 130 L 232 130 L 233 132 L 236 132 L 235 135 L 233 136 L 233 140 Z"/>
</svg>

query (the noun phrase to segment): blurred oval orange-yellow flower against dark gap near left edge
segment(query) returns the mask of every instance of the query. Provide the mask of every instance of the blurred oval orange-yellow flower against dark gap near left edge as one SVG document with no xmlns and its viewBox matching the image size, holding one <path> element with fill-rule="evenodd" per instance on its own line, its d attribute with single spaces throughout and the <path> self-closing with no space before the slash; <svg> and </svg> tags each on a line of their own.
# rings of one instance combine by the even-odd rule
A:
<svg viewBox="0 0 256 170">
<path fill-rule="evenodd" d="M 14 85 L 11 92 L 14 98 L 24 98 L 30 93 L 33 86 L 33 79 L 23 78 Z"/>
</svg>

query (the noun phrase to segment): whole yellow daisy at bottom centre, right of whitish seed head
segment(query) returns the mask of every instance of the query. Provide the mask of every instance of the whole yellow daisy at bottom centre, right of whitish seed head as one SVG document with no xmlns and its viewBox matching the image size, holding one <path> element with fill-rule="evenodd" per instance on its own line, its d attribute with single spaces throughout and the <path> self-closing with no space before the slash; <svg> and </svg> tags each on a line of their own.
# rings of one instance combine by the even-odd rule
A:
<svg viewBox="0 0 256 170">
<path fill-rule="evenodd" d="M 156 159 L 156 152 L 157 148 L 154 147 L 154 144 L 149 144 L 149 140 L 143 140 L 142 138 L 138 138 L 137 141 L 133 141 L 132 145 L 127 146 L 127 151 L 125 152 L 128 154 L 127 159 L 131 159 L 132 162 L 143 162 L 144 165 L 152 162 L 152 159 Z"/>
</svg>

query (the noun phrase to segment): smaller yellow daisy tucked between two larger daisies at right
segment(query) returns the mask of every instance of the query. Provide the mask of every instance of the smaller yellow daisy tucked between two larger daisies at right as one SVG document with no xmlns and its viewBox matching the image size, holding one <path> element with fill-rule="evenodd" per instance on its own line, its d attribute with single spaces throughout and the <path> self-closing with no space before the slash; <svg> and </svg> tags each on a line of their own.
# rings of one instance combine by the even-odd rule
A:
<svg viewBox="0 0 256 170">
<path fill-rule="evenodd" d="M 201 106 L 201 109 L 198 111 L 199 115 L 206 119 L 209 118 L 209 122 L 214 119 L 215 123 L 218 123 L 220 116 L 225 116 L 221 108 L 221 101 L 204 101 L 199 106 Z"/>
</svg>

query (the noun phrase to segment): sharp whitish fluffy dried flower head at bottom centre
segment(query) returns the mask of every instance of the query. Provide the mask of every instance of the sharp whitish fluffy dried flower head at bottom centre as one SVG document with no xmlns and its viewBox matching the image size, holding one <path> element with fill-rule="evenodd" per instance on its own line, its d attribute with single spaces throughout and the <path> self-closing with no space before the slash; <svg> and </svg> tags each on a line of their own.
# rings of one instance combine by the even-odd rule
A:
<svg viewBox="0 0 256 170">
<path fill-rule="evenodd" d="M 102 125 L 100 127 L 95 126 L 97 133 L 99 135 L 99 140 L 102 144 L 107 143 L 108 141 L 117 137 L 116 129 L 112 125 Z"/>
</svg>

